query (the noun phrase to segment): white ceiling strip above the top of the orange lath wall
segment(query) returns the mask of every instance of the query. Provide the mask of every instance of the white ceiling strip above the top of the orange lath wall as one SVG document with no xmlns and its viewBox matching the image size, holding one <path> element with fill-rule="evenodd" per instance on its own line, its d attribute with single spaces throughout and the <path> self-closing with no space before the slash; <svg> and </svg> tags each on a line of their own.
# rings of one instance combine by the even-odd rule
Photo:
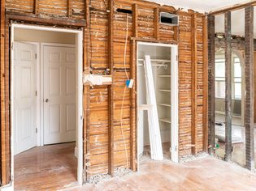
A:
<svg viewBox="0 0 256 191">
<path fill-rule="evenodd" d="M 225 6 L 233 6 L 235 4 L 250 2 L 246 0 L 147 0 L 149 2 L 157 2 L 161 5 L 174 6 L 176 8 L 193 9 L 199 12 L 209 12 L 221 9 Z"/>
</svg>

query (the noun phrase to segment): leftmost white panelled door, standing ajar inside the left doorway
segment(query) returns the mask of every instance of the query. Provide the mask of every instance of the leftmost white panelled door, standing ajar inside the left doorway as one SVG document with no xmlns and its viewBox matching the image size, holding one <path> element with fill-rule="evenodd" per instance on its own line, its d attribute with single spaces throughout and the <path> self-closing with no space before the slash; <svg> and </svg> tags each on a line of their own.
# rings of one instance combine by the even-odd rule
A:
<svg viewBox="0 0 256 191">
<path fill-rule="evenodd" d="M 14 43 L 14 139 L 15 155 L 37 145 L 35 45 Z"/>
</svg>

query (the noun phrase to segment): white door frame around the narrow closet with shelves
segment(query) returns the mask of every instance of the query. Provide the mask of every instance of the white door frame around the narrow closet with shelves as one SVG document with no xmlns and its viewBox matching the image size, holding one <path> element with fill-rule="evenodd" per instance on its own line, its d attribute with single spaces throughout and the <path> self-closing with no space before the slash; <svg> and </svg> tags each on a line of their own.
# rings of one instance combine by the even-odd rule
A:
<svg viewBox="0 0 256 191">
<path fill-rule="evenodd" d="M 179 65 L 178 65 L 178 45 L 150 43 L 150 42 L 137 42 L 137 57 L 139 45 L 154 45 L 170 47 L 171 49 L 171 161 L 179 162 Z M 138 59 L 138 58 L 137 58 Z M 138 67 L 138 66 L 137 66 Z M 138 71 L 138 70 L 137 70 Z M 138 74 L 137 74 L 138 76 Z M 137 78 L 138 79 L 138 78 Z M 137 83 L 139 83 L 137 81 Z M 137 108 L 137 113 L 139 110 Z M 138 125 L 138 114 L 137 114 Z M 137 134 L 139 133 L 137 128 Z M 139 159 L 139 136 L 137 136 L 137 159 Z M 139 163 L 137 163 L 138 165 Z M 137 169 L 139 167 L 137 166 Z"/>
</svg>

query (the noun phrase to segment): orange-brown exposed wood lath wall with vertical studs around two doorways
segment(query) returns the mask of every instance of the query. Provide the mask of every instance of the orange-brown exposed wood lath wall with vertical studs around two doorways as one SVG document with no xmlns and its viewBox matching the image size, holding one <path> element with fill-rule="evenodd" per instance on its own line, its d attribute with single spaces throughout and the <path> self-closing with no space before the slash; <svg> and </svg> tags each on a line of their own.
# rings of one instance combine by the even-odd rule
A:
<svg viewBox="0 0 256 191">
<path fill-rule="evenodd" d="M 171 6 L 138 0 L 7 0 L 6 6 L 9 18 L 7 24 L 12 18 L 24 20 L 25 23 L 84 28 L 85 73 L 112 75 L 111 85 L 84 86 L 85 180 L 98 173 L 113 175 L 115 168 L 137 169 L 137 90 L 136 86 L 132 90 L 124 87 L 127 79 L 125 69 L 128 77 L 136 80 L 136 49 L 137 41 L 140 40 L 179 45 L 179 154 L 181 157 L 206 151 L 208 144 L 204 140 L 207 138 L 208 124 L 203 120 L 203 111 L 207 111 L 207 83 L 204 83 L 207 74 L 204 73 L 208 60 L 205 15 L 194 11 L 176 11 Z M 133 12 L 120 13 L 118 8 Z M 160 11 L 179 15 L 179 27 L 159 23 Z M 128 41 L 124 66 L 127 20 Z M 4 19 L 1 28 L 5 28 Z M 4 44 L 1 45 L 3 52 Z M 5 49 L 8 49 L 8 43 Z M 9 61 L 5 63 L 2 57 L 1 66 L 9 66 Z M 7 74 L 9 71 L 2 71 L 1 67 L 1 72 Z M 2 74 L 1 88 L 5 84 Z M 10 96 L 9 91 L 1 89 L 1 95 L 3 93 Z M 2 117 L 5 113 L 8 117 L 8 104 L 3 104 Z M 3 130 L 9 133 L 10 124 L 3 118 L 1 127 L 2 133 Z M 8 144 L 4 149 L 10 149 Z M 7 166 L 3 168 L 10 170 Z"/>
</svg>

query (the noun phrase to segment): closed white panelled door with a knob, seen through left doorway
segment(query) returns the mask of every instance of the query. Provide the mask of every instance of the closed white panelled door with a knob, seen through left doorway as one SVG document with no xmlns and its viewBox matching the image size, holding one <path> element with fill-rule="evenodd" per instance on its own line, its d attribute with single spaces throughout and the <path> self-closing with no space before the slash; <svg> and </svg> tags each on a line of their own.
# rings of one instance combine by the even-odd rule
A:
<svg viewBox="0 0 256 191">
<path fill-rule="evenodd" d="M 44 46 L 44 144 L 76 141 L 76 49 Z"/>
</svg>

